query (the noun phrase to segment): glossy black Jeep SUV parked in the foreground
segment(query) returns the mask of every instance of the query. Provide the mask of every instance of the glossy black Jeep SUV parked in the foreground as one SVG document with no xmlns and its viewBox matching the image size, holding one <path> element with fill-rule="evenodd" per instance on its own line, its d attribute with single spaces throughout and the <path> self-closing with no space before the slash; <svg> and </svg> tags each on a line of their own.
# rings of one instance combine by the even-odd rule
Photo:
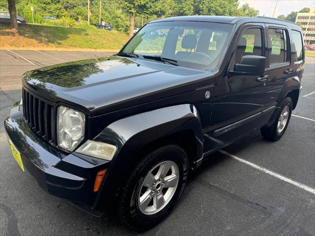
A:
<svg viewBox="0 0 315 236">
<path fill-rule="evenodd" d="M 303 44 L 299 26 L 272 18 L 153 21 L 115 56 L 25 73 L 4 122 L 13 156 L 48 193 L 148 229 L 208 154 L 252 130 L 284 135 Z"/>
</svg>

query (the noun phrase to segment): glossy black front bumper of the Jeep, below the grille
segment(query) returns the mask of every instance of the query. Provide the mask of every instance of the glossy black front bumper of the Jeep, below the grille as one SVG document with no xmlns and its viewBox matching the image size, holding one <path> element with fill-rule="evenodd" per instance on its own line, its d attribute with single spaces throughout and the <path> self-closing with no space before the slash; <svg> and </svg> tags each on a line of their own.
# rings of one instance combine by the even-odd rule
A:
<svg viewBox="0 0 315 236">
<path fill-rule="evenodd" d="M 4 127 L 21 153 L 24 167 L 42 189 L 87 208 L 95 204 L 95 177 L 98 171 L 108 168 L 108 161 L 53 148 L 27 125 L 19 102 L 13 104 Z"/>
</svg>

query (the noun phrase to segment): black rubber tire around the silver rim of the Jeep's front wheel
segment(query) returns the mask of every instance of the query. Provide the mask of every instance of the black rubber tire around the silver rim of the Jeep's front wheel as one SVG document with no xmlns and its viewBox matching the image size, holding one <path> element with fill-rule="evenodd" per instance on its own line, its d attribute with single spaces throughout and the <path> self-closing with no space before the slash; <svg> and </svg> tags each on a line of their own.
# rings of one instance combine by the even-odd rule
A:
<svg viewBox="0 0 315 236">
<path fill-rule="evenodd" d="M 142 183 L 145 177 L 152 171 L 152 168 L 163 161 L 172 161 L 178 166 L 179 181 L 176 190 L 174 190 L 174 194 L 169 202 L 157 213 L 151 215 L 144 214 L 138 206 L 139 191 L 141 191 Z M 156 226 L 167 217 L 168 213 L 170 213 L 180 199 L 185 188 L 188 171 L 187 154 L 182 148 L 176 145 L 167 145 L 146 155 L 135 166 L 122 191 L 119 203 L 119 216 L 121 220 L 126 226 L 137 232 L 142 232 Z"/>
</svg>

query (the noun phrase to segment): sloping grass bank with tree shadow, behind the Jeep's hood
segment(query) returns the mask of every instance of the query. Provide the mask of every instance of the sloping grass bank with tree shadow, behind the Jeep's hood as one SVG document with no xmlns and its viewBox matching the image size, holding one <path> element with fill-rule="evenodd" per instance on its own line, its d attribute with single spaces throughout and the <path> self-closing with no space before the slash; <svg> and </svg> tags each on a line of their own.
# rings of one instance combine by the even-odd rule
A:
<svg viewBox="0 0 315 236">
<path fill-rule="evenodd" d="M 19 33 L 9 24 L 0 24 L 1 48 L 85 48 L 119 50 L 128 35 L 103 29 L 64 28 L 42 25 L 19 25 Z"/>
</svg>

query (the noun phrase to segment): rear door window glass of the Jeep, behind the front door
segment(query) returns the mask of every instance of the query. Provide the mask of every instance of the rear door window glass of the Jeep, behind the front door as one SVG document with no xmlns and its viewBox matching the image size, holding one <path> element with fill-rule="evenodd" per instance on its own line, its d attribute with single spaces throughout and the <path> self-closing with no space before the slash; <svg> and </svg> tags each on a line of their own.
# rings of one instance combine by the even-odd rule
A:
<svg viewBox="0 0 315 236">
<path fill-rule="evenodd" d="M 283 63 L 287 61 L 286 38 L 286 31 L 284 29 L 268 29 L 270 64 Z"/>
</svg>

